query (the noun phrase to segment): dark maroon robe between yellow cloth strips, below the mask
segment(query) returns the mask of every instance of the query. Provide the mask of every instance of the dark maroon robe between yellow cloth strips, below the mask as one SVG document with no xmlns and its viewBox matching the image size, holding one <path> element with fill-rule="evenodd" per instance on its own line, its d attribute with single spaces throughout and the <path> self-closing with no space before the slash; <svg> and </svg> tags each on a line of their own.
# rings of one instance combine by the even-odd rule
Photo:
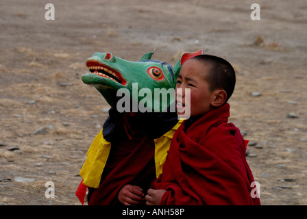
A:
<svg viewBox="0 0 307 219">
<path fill-rule="evenodd" d="M 156 179 L 154 150 L 153 139 L 148 135 L 127 138 L 123 132 L 112 142 L 99 188 L 88 188 L 88 205 L 121 205 L 117 196 L 127 184 L 138 185 L 147 192 Z"/>
</svg>

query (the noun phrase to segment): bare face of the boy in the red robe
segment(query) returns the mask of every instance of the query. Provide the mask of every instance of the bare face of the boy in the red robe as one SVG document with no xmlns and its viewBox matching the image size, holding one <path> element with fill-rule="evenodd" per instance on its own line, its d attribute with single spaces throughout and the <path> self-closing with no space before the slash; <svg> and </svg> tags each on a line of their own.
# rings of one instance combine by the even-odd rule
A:
<svg viewBox="0 0 307 219">
<path fill-rule="evenodd" d="M 187 108 L 191 110 L 190 116 L 206 114 L 211 109 L 215 94 L 210 92 L 209 83 L 206 81 L 204 73 L 208 73 L 208 67 L 198 60 L 188 60 L 182 66 L 176 84 L 176 107 L 179 116 L 184 114 L 180 112 Z M 182 98 L 177 96 L 179 93 L 177 88 L 182 88 Z M 191 91 L 191 101 L 187 101 L 185 98 L 185 88 L 189 88 Z"/>
</svg>

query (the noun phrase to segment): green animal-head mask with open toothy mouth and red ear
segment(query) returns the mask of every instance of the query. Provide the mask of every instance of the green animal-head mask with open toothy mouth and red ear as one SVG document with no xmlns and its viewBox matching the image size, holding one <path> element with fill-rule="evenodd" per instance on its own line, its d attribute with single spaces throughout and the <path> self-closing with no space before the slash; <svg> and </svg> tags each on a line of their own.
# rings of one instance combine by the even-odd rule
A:
<svg viewBox="0 0 307 219">
<path fill-rule="evenodd" d="M 175 101 L 175 95 L 170 95 L 168 101 L 160 105 L 160 98 L 153 95 L 155 89 L 174 89 L 182 64 L 191 57 L 201 55 L 202 50 L 183 53 L 175 66 L 151 60 L 153 52 L 145 53 L 138 62 L 123 60 L 112 53 L 95 53 L 86 61 L 90 73 L 82 75 L 82 81 L 94 86 L 111 107 L 116 107 L 121 99 L 117 91 L 125 88 L 121 89 L 126 90 L 123 93 L 130 95 L 132 101 L 146 103 L 149 112 L 158 112 L 155 108 L 157 105 L 158 110 L 164 112 Z"/>
</svg>

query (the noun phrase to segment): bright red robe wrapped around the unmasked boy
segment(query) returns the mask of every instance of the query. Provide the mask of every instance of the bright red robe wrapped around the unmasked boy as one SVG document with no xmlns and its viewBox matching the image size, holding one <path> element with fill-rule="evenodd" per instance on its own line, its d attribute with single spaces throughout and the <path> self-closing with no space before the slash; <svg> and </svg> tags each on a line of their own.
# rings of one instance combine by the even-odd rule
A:
<svg viewBox="0 0 307 219">
<path fill-rule="evenodd" d="M 177 129 L 162 175 L 154 182 L 156 190 L 167 190 L 161 205 L 260 205 L 259 198 L 251 197 L 254 177 L 243 137 L 228 124 L 229 116 L 226 103 Z"/>
</svg>

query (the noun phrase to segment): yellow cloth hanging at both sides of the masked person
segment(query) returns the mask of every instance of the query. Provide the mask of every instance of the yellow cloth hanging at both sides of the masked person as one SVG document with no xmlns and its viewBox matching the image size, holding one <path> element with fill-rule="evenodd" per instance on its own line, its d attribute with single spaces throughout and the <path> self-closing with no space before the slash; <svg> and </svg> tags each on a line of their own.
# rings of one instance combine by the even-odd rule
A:
<svg viewBox="0 0 307 219">
<path fill-rule="evenodd" d="M 156 177 L 158 178 L 162 174 L 163 164 L 167 159 L 167 151 L 171 145 L 171 139 L 175 131 L 180 127 L 183 120 L 179 122 L 163 136 L 154 140 L 155 142 L 155 164 L 156 164 Z M 99 183 L 104 167 L 110 153 L 111 143 L 103 138 L 102 130 L 97 134 L 90 149 L 86 155 L 86 161 L 84 162 L 79 175 L 83 178 L 84 185 L 91 188 L 99 188 Z"/>
</svg>

